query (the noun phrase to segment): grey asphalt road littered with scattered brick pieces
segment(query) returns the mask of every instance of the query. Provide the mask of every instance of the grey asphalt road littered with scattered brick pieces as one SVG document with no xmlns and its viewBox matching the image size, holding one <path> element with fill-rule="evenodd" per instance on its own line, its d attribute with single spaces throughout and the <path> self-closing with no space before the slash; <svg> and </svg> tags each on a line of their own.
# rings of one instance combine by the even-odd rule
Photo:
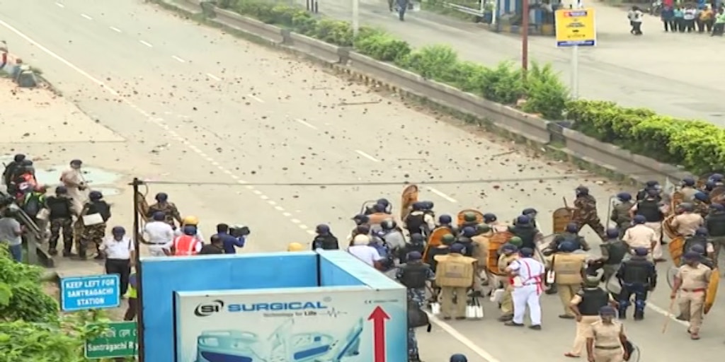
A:
<svg viewBox="0 0 725 362">
<path fill-rule="evenodd" d="M 118 162 L 138 164 L 139 174 L 154 181 L 178 182 L 152 185 L 152 193 L 167 190 L 186 214 L 199 214 L 207 232 L 217 222 L 249 225 L 247 251 L 309 242 L 321 222 L 343 238 L 364 201 L 399 203 L 402 185 L 370 182 L 443 181 L 422 194 L 440 214 L 475 208 L 512 219 L 534 206 L 544 234 L 550 232 L 544 219 L 563 196 L 571 202 L 576 186 L 588 185 L 598 196 L 602 216 L 616 192 L 589 174 L 140 1 L 3 1 L 0 29 L 14 54 L 127 140 L 133 154 L 145 156 L 119 150 Z M 254 185 L 300 182 L 318 185 Z M 664 278 L 660 285 L 647 319 L 627 323 L 642 361 L 718 358 L 725 327 L 713 321 L 724 317 L 723 298 L 703 339 L 690 342 L 676 321 L 661 333 L 669 299 Z M 500 326 L 486 303 L 484 321 L 438 322 L 431 334 L 421 332 L 423 355 L 426 361 L 455 352 L 470 361 L 564 360 L 573 323 L 556 317 L 558 297 L 545 296 L 543 303 L 542 332 Z"/>
</svg>

